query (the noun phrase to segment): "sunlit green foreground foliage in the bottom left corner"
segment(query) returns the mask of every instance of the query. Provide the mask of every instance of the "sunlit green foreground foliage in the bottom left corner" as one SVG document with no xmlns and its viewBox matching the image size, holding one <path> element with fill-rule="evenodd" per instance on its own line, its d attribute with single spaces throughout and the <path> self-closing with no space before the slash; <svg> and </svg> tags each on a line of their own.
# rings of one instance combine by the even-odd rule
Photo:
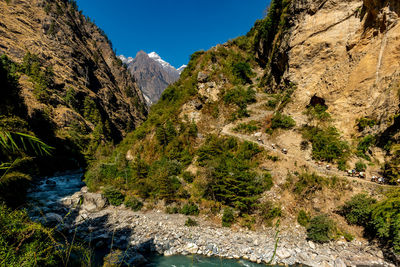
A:
<svg viewBox="0 0 400 267">
<path fill-rule="evenodd" d="M 23 210 L 0 204 L 0 229 L 1 266 L 90 265 L 87 248 L 68 243 L 54 229 L 31 222 Z"/>
</svg>

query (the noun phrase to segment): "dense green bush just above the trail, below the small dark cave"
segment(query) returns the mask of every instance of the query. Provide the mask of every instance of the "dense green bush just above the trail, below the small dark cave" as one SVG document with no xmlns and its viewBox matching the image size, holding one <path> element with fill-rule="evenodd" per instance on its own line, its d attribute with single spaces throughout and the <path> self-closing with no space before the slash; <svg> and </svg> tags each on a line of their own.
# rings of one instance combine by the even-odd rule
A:
<svg viewBox="0 0 400 267">
<path fill-rule="evenodd" d="M 349 155 L 349 145 L 335 127 L 304 127 L 303 137 L 312 143 L 312 156 L 316 160 L 333 162 Z"/>
</svg>

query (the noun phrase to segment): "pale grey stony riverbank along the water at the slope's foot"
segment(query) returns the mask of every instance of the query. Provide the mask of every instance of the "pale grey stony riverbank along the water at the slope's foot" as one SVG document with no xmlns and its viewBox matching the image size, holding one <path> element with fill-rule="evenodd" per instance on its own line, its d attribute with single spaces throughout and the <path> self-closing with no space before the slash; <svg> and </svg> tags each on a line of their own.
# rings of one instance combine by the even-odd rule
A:
<svg viewBox="0 0 400 267">
<path fill-rule="evenodd" d="M 224 258 L 243 258 L 257 263 L 310 266 L 394 266 L 385 262 L 377 247 L 364 241 L 336 241 L 316 244 L 306 241 L 305 231 L 297 226 L 280 229 L 278 248 L 274 254 L 276 230 L 232 230 L 213 225 L 199 216 L 199 226 L 184 226 L 187 216 L 162 212 L 133 212 L 123 206 L 107 205 L 101 194 L 89 193 L 86 187 L 64 197 L 52 212 L 44 216 L 46 223 L 58 223 L 62 231 L 74 233 L 97 248 L 112 245 L 123 251 L 121 261 L 146 263 L 146 253 L 200 254 Z M 65 216 L 63 212 L 69 211 Z M 43 219 L 42 219 L 43 220 Z M 123 259 L 122 259 L 123 258 Z"/>
</svg>

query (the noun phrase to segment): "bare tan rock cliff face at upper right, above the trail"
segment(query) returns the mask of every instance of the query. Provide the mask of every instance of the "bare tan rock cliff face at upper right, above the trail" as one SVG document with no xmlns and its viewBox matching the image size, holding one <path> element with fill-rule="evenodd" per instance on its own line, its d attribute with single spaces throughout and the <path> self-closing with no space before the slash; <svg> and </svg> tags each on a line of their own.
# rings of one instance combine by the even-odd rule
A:
<svg viewBox="0 0 400 267">
<path fill-rule="evenodd" d="M 306 123 L 304 110 L 316 96 L 349 142 L 367 134 L 377 136 L 382 147 L 396 142 L 399 11 L 397 1 L 292 1 L 288 28 L 275 54 L 269 55 L 271 69 L 285 66 L 280 85 L 296 85 L 285 112 L 298 124 Z M 374 121 L 374 126 L 360 131 L 362 119 Z M 382 153 L 375 152 L 383 164 Z M 391 153 L 389 149 L 386 155 Z"/>
</svg>

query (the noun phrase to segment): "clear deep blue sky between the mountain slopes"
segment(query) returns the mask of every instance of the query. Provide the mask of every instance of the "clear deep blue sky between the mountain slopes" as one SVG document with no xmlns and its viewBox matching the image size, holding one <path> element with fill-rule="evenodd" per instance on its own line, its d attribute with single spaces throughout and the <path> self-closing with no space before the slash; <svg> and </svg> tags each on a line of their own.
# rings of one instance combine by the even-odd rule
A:
<svg viewBox="0 0 400 267">
<path fill-rule="evenodd" d="M 77 0 L 117 54 L 157 52 L 175 67 L 198 50 L 244 35 L 270 0 Z"/>
</svg>

